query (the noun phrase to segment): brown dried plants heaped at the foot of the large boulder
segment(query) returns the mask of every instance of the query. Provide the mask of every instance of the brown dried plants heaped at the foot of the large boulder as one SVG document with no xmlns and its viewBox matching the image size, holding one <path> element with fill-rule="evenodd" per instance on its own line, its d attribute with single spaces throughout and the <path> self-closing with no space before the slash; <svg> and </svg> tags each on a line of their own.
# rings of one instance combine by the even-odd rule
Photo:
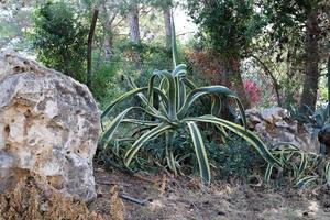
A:
<svg viewBox="0 0 330 220">
<path fill-rule="evenodd" d="M 0 219 L 102 220 L 103 218 L 89 211 L 82 200 L 66 197 L 50 186 L 42 177 L 26 175 L 14 188 L 0 195 Z"/>
</svg>

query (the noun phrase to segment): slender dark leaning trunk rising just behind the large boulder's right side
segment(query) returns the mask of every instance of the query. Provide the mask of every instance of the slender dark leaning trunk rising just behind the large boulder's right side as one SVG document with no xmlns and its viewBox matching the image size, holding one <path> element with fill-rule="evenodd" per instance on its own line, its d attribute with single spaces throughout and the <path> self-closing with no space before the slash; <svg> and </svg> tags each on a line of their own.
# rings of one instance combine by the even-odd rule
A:
<svg viewBox="0 0 330 220">
<path fill-rule="evenodd" d="M 96 23 L 98 20 L 98 14 L 99 10 L 95 9 L 92 19 L 91 19 L 91 24 L 90 24 L 90 30 L 88 34 L 88 51 L 87 51 L 87 86 L 90 88 L 91 87 L 91 50 L 92 50 L 92 37 L 95 33 L 95 28 Z"/>
</svg>

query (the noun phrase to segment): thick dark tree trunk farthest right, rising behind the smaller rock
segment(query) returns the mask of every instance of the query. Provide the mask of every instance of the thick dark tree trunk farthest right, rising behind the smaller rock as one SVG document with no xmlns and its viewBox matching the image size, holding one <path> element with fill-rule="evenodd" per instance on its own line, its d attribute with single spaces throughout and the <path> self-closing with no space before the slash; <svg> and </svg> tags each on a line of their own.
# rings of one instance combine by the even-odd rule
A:
<svg viewBox="0 0 330 220">
<path fill-rule="evenodd" d="M 315 111 L 317 102 L 319 72 L 319 34 L 318 12 L 311 11 L 306 25 L 306 61 L 302 95 L 300 99 L 300 112 L 310 114 Z M 310 110 L 309 110 L 310 109 Z"/>
</svg>

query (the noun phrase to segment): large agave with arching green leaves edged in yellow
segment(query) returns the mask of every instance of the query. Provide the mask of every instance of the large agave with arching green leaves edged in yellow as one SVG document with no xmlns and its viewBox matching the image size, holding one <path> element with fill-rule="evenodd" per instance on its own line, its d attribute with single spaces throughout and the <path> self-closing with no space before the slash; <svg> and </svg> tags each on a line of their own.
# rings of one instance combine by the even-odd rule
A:
<svg viewBox="0 0 330 220">
<path fill-rule="evenodd" d="M 134 140 L 132 146 L 124 155 L 124 164 L 130 165 L 136 153 L 143 145 L 161 135 L 165 135 L 167 143 L 166 160 L 168 167 L 176 173 L 174 146 L 170 139 L 175 132 L 186 131 L 190 135 L 199 165 L 202 184 L 210 183 L 210 166 L 207 156 L 207 147 L 199 125 L 201 123 L 212 123 L 216 125 L 219 135 L 226 136 L 231 131 L 245 139 L 270 164 L 278 164 L 277 160 L 270 153 L 265 144 L 252 132 L 245 129 L 246 120 L 243 106 L 238 96 L 223 86 L 207 86 L 196 88 L 187 78 L 186 65 L 180 64 L 172 72 L 156 70 L 150 78 L 148 86 L 136 88 L 132 82 L 133 89 L 116 99 L 102 113 L 102 121 L 109 119 L 111 111 L 120 102 L 131 97 L 139 97 L 141 105 L 130 107 L 119 113 L 106 128 L 102 135 L 102 143 L 106 147 L 113 139 L 113 134 L 122 122 L 139 124 L 143 127 L 143 133 Z M 157 79 L 157 80 L 156 80 Z M 196 107 L 199 98 L 210 101 L 209 114 L 189 116 L 189 109 Z M 221 103 L 224 99 L 233 99 L 237 103 L 243 125 L 219 118 Z M 200 102 L 199 102 L 200 105 Z M 139 111 L 141 116 L 150 116 L 150 120 L 139 120 L 128 118 L 131 111 Z M 127 136 L 132 138 L 132 136 Z M 155 146 L 157 147 L 157 146 Z"/>
</svg>

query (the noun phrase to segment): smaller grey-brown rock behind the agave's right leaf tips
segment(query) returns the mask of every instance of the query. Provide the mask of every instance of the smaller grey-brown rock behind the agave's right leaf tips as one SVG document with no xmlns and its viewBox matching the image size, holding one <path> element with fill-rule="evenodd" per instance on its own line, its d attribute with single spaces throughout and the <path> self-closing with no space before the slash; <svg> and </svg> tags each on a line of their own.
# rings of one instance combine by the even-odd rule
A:
<svg viewBox="0 0 330 220">
<path fill-rule="evenodd" d="M 307 152 L 319 153 L 320 144 L 310 128 L 298 125 L 287 110 L 279 107 L 270 109 L 248 109 L 248 127 L 255 131 L 270 146 L 279 142 L 290 142 Z"/>
</svg>

